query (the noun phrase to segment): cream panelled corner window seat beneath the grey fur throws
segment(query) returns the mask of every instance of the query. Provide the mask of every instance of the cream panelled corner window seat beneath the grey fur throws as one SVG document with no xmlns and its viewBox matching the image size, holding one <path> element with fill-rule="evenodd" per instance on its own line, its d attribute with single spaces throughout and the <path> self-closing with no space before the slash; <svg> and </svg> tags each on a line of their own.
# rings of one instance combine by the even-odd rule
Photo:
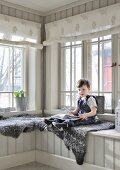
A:
<svg viewBox="0 0 120 170">
<path fill-rule="evenodd" d="M 31 161 L 62 170 L 120 169 L 120 138 L 117 132 L 115 136 L 115 130 L 88 133 L 83 165 L 76 164 L 74 154 L 65 147 L 64 142 L 48 131 L 22 133 L 17 139 L 0 135 L 0 139 L 0 169 Z"/>
</svg>

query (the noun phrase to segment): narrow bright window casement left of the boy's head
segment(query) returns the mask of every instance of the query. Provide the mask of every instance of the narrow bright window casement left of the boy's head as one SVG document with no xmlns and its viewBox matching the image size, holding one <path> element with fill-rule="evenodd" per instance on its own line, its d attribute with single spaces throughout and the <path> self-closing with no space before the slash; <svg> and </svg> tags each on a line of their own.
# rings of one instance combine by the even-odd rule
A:
<svg viewBox="0 0 120 170">
<path fill-rule="evenodd" d="M 82 77 L 82 43 L 67 42 L 61 47 L 61 107 L 76 106 L 76 81 Z"/>
</svg>

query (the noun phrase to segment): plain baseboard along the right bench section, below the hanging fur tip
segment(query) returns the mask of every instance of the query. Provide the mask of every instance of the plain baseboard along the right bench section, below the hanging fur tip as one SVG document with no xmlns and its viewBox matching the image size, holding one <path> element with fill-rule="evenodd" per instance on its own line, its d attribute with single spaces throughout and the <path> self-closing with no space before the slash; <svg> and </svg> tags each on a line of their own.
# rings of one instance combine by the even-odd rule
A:
<svg viewBox="0 0 120 170">
<path fill-rule="evenodd" d="M 83 165 L 78 165 L 75 160 L 70 158 L 65 158 L 62 156 L 50 154 L 47 152 L 36 150 L 36 162 L 62 169 L 62 170 L 113 170 L 104 167 L 84 163 Z"/>
</svg>

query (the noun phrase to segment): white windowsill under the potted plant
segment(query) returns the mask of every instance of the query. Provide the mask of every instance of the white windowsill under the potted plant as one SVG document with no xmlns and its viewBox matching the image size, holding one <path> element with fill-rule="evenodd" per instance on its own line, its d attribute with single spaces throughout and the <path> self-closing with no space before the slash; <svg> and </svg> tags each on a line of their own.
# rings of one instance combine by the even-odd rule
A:
<svg viewBox="0 0 120 170">
<path fill-rule="evenodd" d="M 4 117 L 10 117 L 10 116 L 15 116 L 15 115 L 20 115 L 20 114 L 36 114 L 36 115 L 39 115 L 39 114 L 42 114 L 42 111 L 41 110 L 26 110 L 26 111 L 11 111 L 11 112 L 0 112 L 0 115 L 1 116 L 4 116 Z"/>
</svg>

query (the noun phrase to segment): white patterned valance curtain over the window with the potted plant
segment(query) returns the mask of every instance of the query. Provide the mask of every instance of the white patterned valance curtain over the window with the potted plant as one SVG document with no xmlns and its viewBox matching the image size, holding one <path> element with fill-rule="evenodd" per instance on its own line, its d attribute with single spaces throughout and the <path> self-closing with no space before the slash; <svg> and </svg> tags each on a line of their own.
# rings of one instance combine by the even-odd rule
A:
<svg viewBox="0 0 120 170">
<path fill-rule="evenodd" d="M 42 49 L 41 24 L 0 14 L 0 43 Z"/>
</svg>

